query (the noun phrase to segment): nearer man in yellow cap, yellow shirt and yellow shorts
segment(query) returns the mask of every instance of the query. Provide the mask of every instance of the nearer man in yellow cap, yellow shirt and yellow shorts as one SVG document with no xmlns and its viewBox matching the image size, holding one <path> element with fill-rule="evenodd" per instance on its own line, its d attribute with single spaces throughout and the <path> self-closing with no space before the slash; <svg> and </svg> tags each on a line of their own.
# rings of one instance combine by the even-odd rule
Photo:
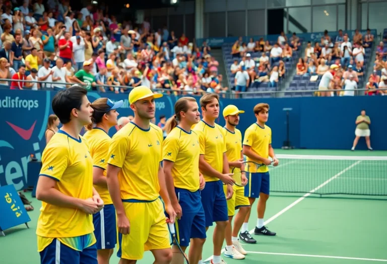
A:
<svg viewBox="0 0 387 264">
<path fill-rule="evenodd" d="M 173 211 L 161 167 L 163 133 L 150 123 L 155 116 L 155 99 L 146 86 L 135 87 L 129 103 L 135 118 L 112 138 L 107 165 L 107 186 L 117 213 L 120 263 L 136 263 L 151 250 L 155 263 L 172 259 L 164 214 L 173 223 Z"/>
</svg>

